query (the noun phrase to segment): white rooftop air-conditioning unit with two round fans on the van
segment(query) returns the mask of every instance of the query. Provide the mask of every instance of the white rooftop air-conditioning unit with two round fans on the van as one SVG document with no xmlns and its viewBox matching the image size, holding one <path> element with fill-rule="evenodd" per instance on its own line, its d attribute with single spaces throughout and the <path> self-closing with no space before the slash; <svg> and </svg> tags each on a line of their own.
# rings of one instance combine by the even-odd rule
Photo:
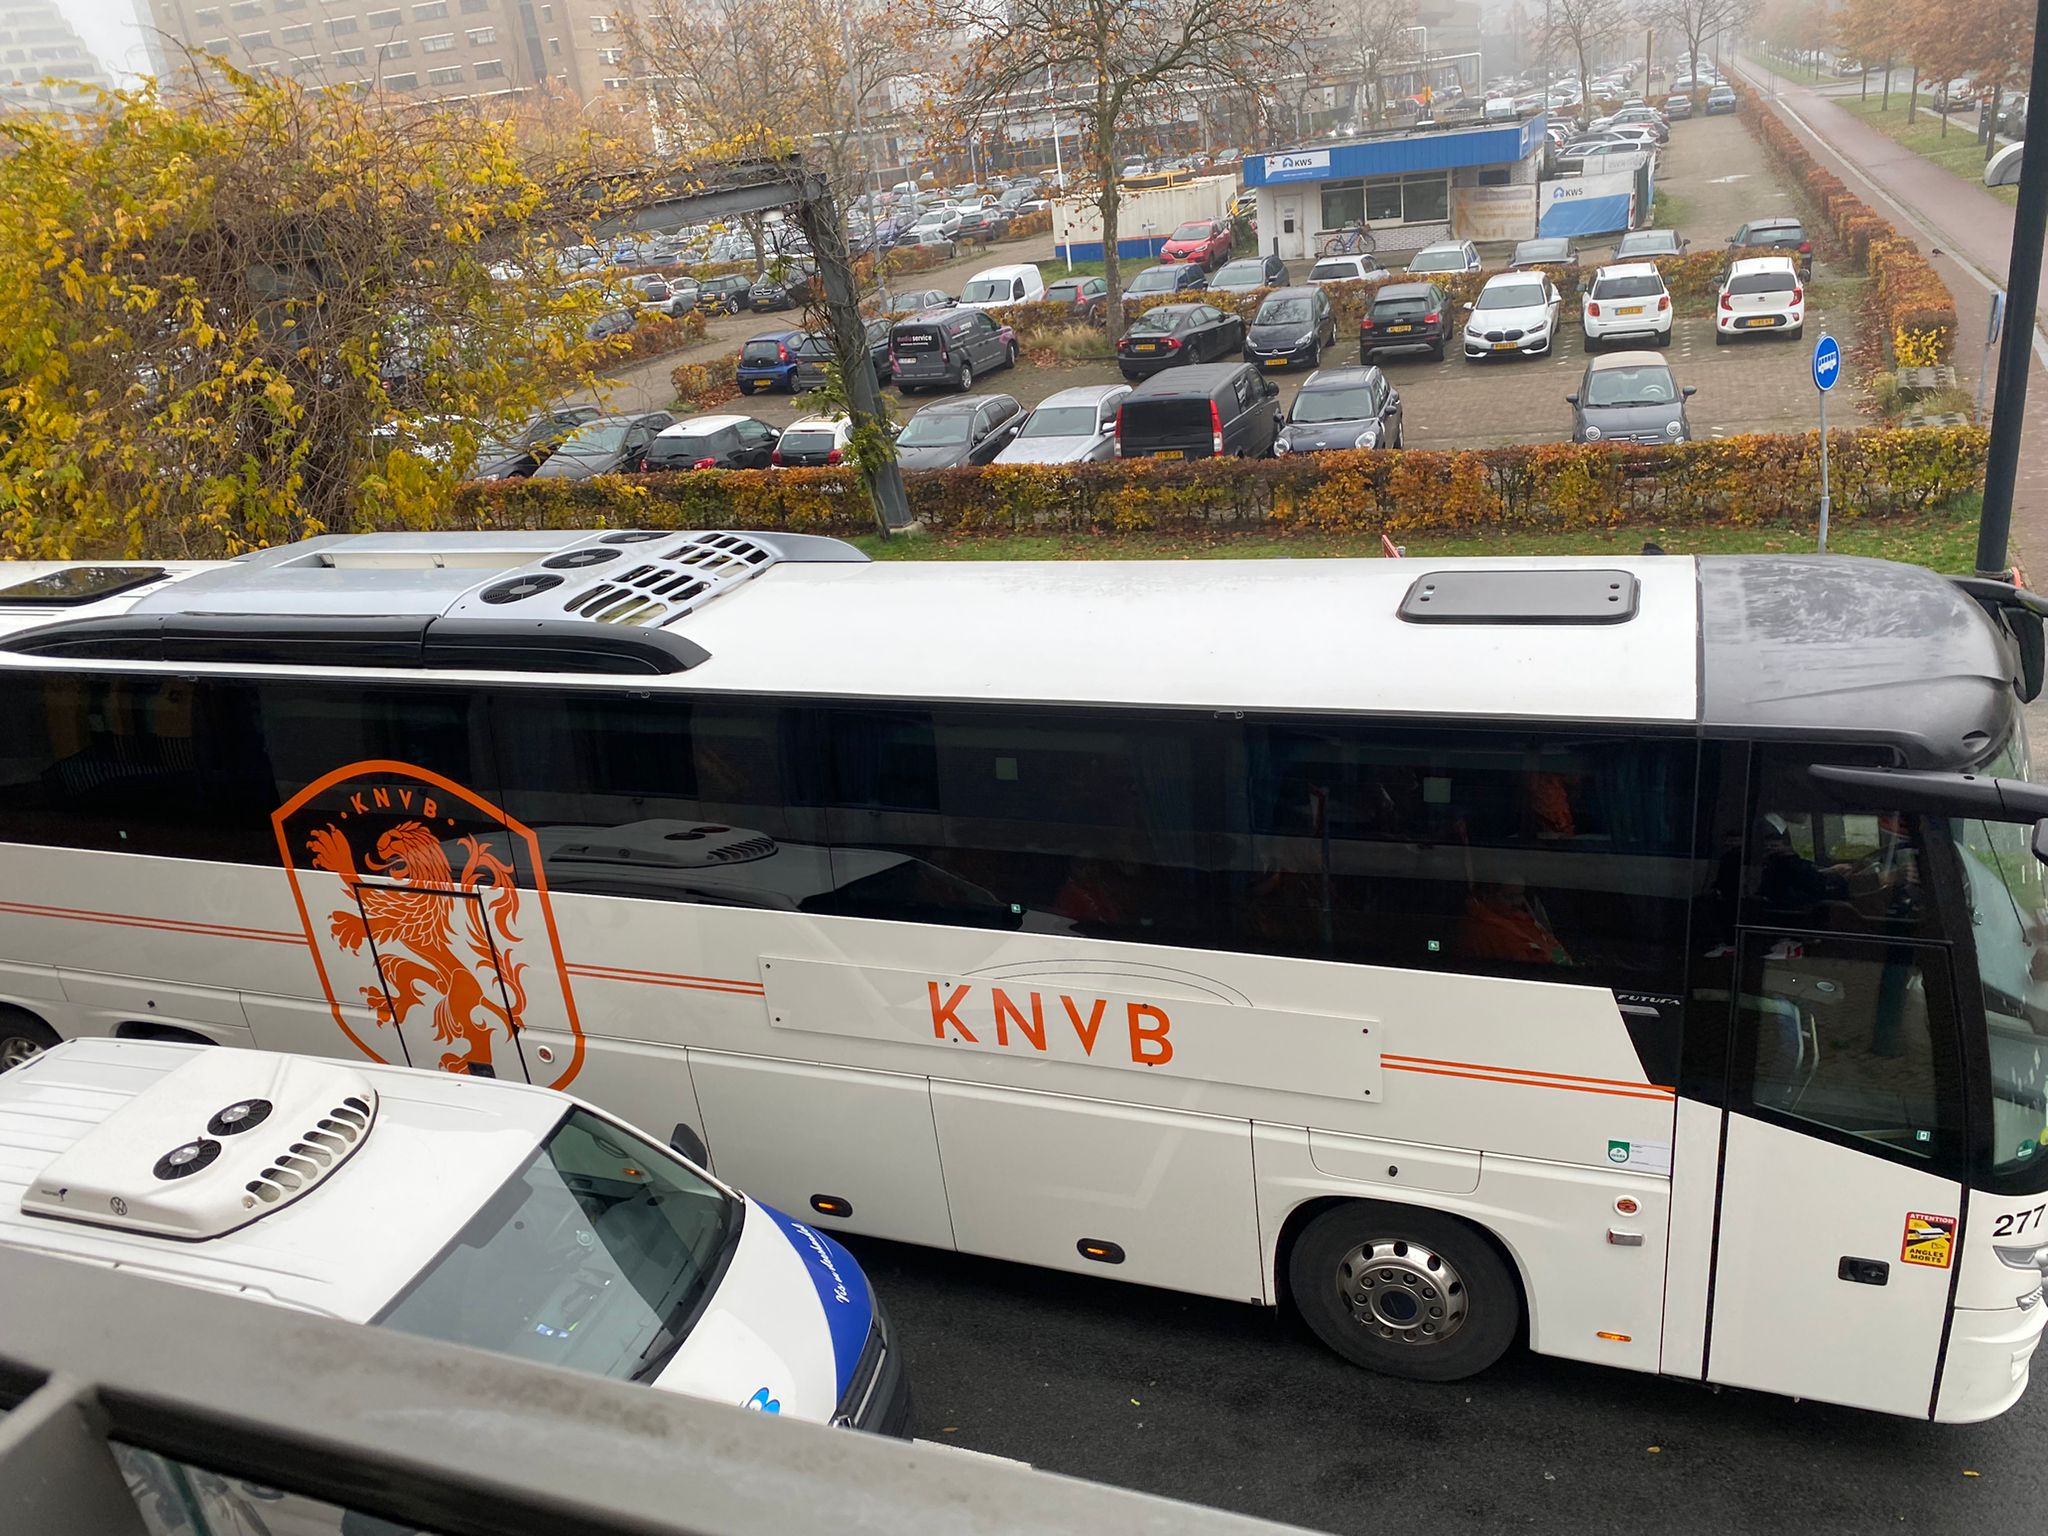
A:
<svg viewBox="0 0 2048 1536">
<path fill-rule="evenodd" d="M 223 1237 L 311 1194 L 375 1122 L 367 1073 L 197 1051 L 66 1147 L 20 1208 L 184 1241 Z"/>
</svg>

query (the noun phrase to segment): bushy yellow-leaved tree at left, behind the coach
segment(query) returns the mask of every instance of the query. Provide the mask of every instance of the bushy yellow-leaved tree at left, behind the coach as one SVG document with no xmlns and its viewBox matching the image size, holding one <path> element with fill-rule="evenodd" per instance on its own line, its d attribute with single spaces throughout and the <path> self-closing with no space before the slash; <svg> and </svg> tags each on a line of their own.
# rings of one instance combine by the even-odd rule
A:
<svg viewBox="0 0 2048 1536">
<path fill-rule="evenodd" d="M 618 346 L 551 256 L 604 211 L 596 145 L 535 164 L 459 106 L 207 66 L 0 121 L 0 551 L 426 520 Z"/>
</svg>

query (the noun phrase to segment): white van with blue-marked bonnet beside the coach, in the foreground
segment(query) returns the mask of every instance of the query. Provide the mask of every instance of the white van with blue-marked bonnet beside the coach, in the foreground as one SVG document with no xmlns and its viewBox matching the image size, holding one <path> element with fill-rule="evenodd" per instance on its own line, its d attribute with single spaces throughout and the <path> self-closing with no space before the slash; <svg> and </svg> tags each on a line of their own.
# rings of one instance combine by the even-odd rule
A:
<svg viewBox="0 0 2048 1536">
<path fill-rule="evenodd" d="M 844 1247 L 508 1079 L 70 1040 L 0 1075 L 0 1243 L 815 1423 L 909 1409 Z"/>
</svg>

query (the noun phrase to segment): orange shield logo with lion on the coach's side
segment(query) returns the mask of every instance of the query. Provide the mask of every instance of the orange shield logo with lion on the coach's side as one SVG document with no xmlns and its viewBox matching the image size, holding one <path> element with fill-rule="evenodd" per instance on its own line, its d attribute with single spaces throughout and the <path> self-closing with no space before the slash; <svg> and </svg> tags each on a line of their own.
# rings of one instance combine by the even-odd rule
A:
<svg viewBox="0 0 2048 1536">
<path fill-rule="evenodd" d="M 522 1077 L 518 1034 L 539 1022 L 573 1038 L 551 1085 L 575 1077 L 584 1034 L 526 827 L 403 762 L 338 768 L 270 825 L 334 1022 L 362 1055 Z M 369 1016 L 383 1051 L 350 1012 Z"/>
</svg>

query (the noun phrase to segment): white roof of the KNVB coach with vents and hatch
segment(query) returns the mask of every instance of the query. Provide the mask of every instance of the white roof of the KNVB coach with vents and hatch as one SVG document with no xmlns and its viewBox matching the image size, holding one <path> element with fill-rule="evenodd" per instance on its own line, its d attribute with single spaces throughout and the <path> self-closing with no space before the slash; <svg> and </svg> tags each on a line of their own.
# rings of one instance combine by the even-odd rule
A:
<svg viewBox="0 0 2048 1536">
<path fill-rule="evenodd" d="M 0 588 L 10 578 L 0 567 Z M 1434 584 L 1440 608 L 1417 606 Z M 803 535 L 354 535 L 168 569 L 63 614 L 0 600 L 0 662 L 66 655 L 53 641 L 109 618 L 223 627 L 240 649 L 197 659 L 236 670 L 315 670 L 266 649 L 272 625 L 303 641 L 324 621 L 461 618 L 483 635 L 543 621 L 592 643 L 686 643 L 662 676 L 635 678 L 645 688 L 1853 729 L 1921 739 L 1939 760 L 1972 733 L 2001 737 L 2013 686 L 1968 594 L 1843 557 L 870 563 Z M 152 655 L 123 643 L 70 657 Z M 477 645 L 461 657 L 436 676 L 553 668 L 500 668 Z M 324 676 L 346 670 L 346 647 L 324 662 Z"/>
</svg>

